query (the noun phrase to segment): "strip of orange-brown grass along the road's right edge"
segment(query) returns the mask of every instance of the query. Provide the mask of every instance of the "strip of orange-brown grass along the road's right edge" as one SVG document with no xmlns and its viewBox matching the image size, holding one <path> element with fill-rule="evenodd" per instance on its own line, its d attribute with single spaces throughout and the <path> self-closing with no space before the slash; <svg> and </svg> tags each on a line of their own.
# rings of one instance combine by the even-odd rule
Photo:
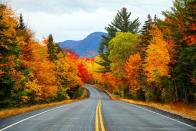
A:
<svg viewBox="0 0 196 131">
<path fill-rule="evenodd" d="M 124 101 L 124 102 L 131 103 L 131 104 L 153 107 L 159 110 L 163 110 L 163 111 L 196 121 L 196 104 L 186 104 L 182 102 L 156 103 L 156 102 L 137 101 L 137 100 L 132 100 L 132 99 L 123 99 L 123 98 L 113 95 L 112 93 L 105 90 L 99 85 L 95 85 L 95 86 L 99 87 L 99 89 L 107 93 L 111 100 L 120 100 L 120 101 Z"/>
</svg>

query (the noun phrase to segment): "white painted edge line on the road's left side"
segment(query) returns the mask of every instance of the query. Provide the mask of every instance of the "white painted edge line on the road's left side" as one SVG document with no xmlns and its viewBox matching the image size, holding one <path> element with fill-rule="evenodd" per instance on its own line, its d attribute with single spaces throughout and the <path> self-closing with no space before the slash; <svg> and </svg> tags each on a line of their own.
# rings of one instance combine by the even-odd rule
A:
<svg viewBox="0 0 196 131">
<path fill-rule="evenodd" d="M 44 114 L 44 113 L 46 113 L 46 112 L 49 112 L 49 111 L 52 111 L 52 110 L 56 110 L 56 109 L 61 108 L 61 107 L 63 107 L 63 106 L 64 106 L 64 105 L 59 106 L 59 107 L 55 107 L 55 108 L 52 108 L 52 109 L 49 109 L 49 110 L 46 110 L 46 111 L 43 111 L 43 112 L 40 112 L 40 113 L 35 114 L 35 115 L 33 115 L 33 116 L 30 116 L 30 117 L 27 117 L 27 118 L 25 118 L 25 119 L 22 119 L 22 120 L 20 120 L 20 121 L 18 121 L 18 122 L 15 122 L 15 123 L 9 125 L 9 126 L 6 126 L 6 127 L 4 127 L 4 128 L 1 128 L 0 131 L 4 131 L 4 130 L 6 130 L 6 129 L 8 129 L 8 128 L 14 126 L 14 125 L 17 125 L 17 124 L 23 122 L 23 121 L 26 121 L 26 120 L 31 119 L 31 118 L 33 118 L 33 117 L 39 116 L 39 115 Z"/>
</svg>

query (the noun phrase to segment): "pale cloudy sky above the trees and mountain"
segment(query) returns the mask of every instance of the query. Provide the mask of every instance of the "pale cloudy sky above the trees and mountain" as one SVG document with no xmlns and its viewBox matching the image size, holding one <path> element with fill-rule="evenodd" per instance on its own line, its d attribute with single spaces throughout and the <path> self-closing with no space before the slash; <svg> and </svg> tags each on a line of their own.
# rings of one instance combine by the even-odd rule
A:
<svg viewBox="0 0 196 131">
<path fill-rule="evenodd" d="M 169 10 L 172 0 L 1 0 L 22 13 L 38 40 L 52 33 L 56 41 L 80 40 L 91 32 L 105 31 L 117 10 L 132 12 L 141 23 L 148 14 Z"/>
</svg>

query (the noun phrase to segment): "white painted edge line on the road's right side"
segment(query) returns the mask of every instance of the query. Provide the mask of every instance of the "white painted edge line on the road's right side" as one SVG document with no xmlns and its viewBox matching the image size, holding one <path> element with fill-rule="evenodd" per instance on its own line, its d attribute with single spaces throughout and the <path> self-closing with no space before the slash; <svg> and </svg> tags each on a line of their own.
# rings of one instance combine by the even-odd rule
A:
<svg viewBox="0 0 196 131">
<path fill-rule="evenodd" d="M 148 112 L 151 112 L 151 113 L 154 113 L 154 114 L 160 115 L 160 116 L 162 116 L 162 117 L 165 117 L 165 118 L 171 119 L 171 120 L 173 120 L 173 121 L 176 121 L 176 122 L 179 122 L 179 123 L 184 124 L 184 125 L 186 125 L 186 126 L 189 126 L 189 127 L 193 128 L 193 129 L 196 129 L 196 127 L 194 127 L 194 126 L 192 126 L 192 125 L 189 125 L 189 124 L 187 124 L 187 123 L 184 123 L 184 122 L 182 122 L 182 121 L 176 120 L 176 119 L 174 119 L 174 118 L 171 118 L 171 117 L 165 116 L 165 115 L 160 114 L 160 113 L 158 113 L 158 112 L 154 112 L 154 111 L 152 111 L 152 110 L 149 110 L 149 109 L 146 109 L 146 108 L 140 107 L 140 106 L 135 105 L 135 104 L 133 104 L 133 103 L 128 103 L 128 102 L 125 102 L 125 101 L 121 101 L 121 102 L 124 102 L 124 103 L 126 103 L 126 104 L 128 104 L 128 105 L 133 105 L 133 106 L 135 106 L 135 107 L 137 107 L 137 108 L 140 108 L 140 109 L 146 110 L 146 111 L 148 111 Z"/>
</svg>

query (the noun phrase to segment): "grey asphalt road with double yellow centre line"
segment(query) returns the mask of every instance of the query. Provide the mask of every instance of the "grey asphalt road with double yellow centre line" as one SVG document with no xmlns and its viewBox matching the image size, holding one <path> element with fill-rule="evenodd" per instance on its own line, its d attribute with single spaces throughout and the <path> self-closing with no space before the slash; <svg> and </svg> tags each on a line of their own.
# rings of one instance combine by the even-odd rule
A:
<svg viewBox="0 0 196 131">
<path fill-rule="evenodd" d="M 0 131 L 196 131 L 144 107 L 109 97 L 86 85 L 90 97 L 0 120 Z"/>
</svg>

